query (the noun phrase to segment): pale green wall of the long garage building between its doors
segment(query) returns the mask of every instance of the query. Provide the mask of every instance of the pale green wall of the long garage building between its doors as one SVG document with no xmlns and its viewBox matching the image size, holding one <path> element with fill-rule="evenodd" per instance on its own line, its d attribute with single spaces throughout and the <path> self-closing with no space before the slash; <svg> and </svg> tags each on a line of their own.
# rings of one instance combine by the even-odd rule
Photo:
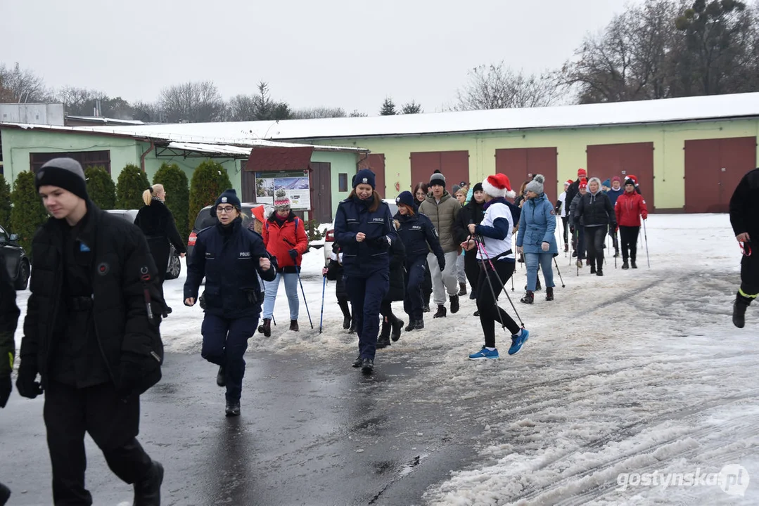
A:
<svg viewBox="0 0 759 506">
<path fill-rule="evenodd" d="M 468 150 L 470 181 L 482 181 L 496 171 L 496 149 L 556 146 L 559 152 L 557 179 L 565 181 L 575 179 L 578 168 L 587 167 L 585 149 L 588 145 L 653 142 L 653 197 L 657 209 L 682 209 L 685 205 L 685 140 L 751 136 L 759 137 L 757 119 L 630 127 L 504 130 L 477 134 L 356 137 L 309 142 L 359 146 L 373 153 L 383 153 L 386 188 L 392 188 L 397 181 L 402 189 L 411 189 L 411 152 Z M 563 190 L 561 185 L 561 182 L 557 183 L 557 193 Z M 392 193 L 395 193 L 394 188 Z"/>
</svg>

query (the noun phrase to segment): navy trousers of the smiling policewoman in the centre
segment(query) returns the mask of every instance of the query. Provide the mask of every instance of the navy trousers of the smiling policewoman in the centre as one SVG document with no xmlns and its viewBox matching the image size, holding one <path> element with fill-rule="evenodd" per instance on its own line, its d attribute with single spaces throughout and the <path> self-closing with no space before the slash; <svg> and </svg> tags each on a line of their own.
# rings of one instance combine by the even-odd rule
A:
<svg viewBox="0 0 759 506">
<path fill-rule="evenodd" d="M 374 360 L 379 334 L 379 306 L 390 289 L 389 272 L 373 272 L 368 278 L 348 276 L 345 280 L 358 334 L 358 354 Z"/>
</svg>

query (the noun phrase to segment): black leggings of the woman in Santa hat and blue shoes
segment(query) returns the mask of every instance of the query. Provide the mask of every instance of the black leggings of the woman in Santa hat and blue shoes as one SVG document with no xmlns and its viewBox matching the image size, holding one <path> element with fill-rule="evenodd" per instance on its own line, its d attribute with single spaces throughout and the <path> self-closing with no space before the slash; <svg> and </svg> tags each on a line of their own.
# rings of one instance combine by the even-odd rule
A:
<svg viewBox="0 0 759 506">
<path fill-rule="evenodd" d="M 506 281 L 514 274 L 514 262 L 496 261 L 493 262 L 493 266 L 496 268 L 495 272 L 490 269 L 488 262 L 480 262 L 480 278 L 477 280 L 477 311 L 480 312 L 485 346 L 490 348 L 496 347 L 496 322 L 498 325 L 505 325 L 512 335 L 519 332 L 517 322 L 498 306 L 498 295 Z"/>
</svg>

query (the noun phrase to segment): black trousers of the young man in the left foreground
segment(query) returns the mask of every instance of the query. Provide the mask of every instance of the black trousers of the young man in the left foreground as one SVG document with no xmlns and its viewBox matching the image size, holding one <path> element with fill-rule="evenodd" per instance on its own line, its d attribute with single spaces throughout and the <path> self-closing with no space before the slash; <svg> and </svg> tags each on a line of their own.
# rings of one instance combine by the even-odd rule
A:
<svg viewBox="0 0 759 506">
<path fill-rule="evenodd" d="M 122 401 L 112 383 L 76 388 L 48 382 L 43 408 L 52 463 L 52 498 L 58 504 L 93 504 L 84 487 L 87 456 L 84 433 L 90 434 L 106 457 L 108 467 L 122 481 L 134 483 L 150 473 L 152 461 L 137 434 L 140 398 Z"/>
</svg>

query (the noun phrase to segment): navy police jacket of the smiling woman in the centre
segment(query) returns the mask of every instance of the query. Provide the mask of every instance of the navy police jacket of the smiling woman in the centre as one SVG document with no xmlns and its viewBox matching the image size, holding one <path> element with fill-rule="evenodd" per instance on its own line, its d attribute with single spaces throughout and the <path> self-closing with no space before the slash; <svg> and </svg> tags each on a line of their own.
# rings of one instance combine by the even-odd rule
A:
<svg viewBox="0 0 759 506">
<path fill-rule="evenodd" d="M 388 205 L 380 202 L 376 211 L 370 212 L 372 203 L 372 199 L 354 196 L 337 206 L 335 241 L 342 247 L 342 265 L 348 278 L 368 278 L 374 272 L 390 269 L 390 245 L 386 237 L 396 240 L 398 236 Z M 366 235 L 361 242 L 356 240 L 359 232 Z"/>
</svg>

